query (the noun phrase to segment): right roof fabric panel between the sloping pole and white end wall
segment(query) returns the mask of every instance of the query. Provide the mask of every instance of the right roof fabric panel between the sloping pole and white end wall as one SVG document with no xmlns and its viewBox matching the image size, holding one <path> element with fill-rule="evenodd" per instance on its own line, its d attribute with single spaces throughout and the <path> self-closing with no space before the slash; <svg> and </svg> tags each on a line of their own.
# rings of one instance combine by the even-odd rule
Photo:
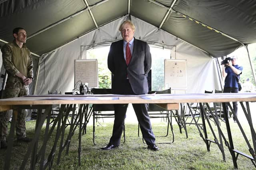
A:
<svg viewBox="0 0 256 170">
<path fill-rule="evenodd" d="M 193 21 L 189 20 L 188 22 L 186 18 L 175 13 L 166 21 L 162 29 L 207 51 L 213 57 L 232 53 L 241 45 L 237 41 L 224 37 L 220 33 L 202 27 Z"/>
</svg>

